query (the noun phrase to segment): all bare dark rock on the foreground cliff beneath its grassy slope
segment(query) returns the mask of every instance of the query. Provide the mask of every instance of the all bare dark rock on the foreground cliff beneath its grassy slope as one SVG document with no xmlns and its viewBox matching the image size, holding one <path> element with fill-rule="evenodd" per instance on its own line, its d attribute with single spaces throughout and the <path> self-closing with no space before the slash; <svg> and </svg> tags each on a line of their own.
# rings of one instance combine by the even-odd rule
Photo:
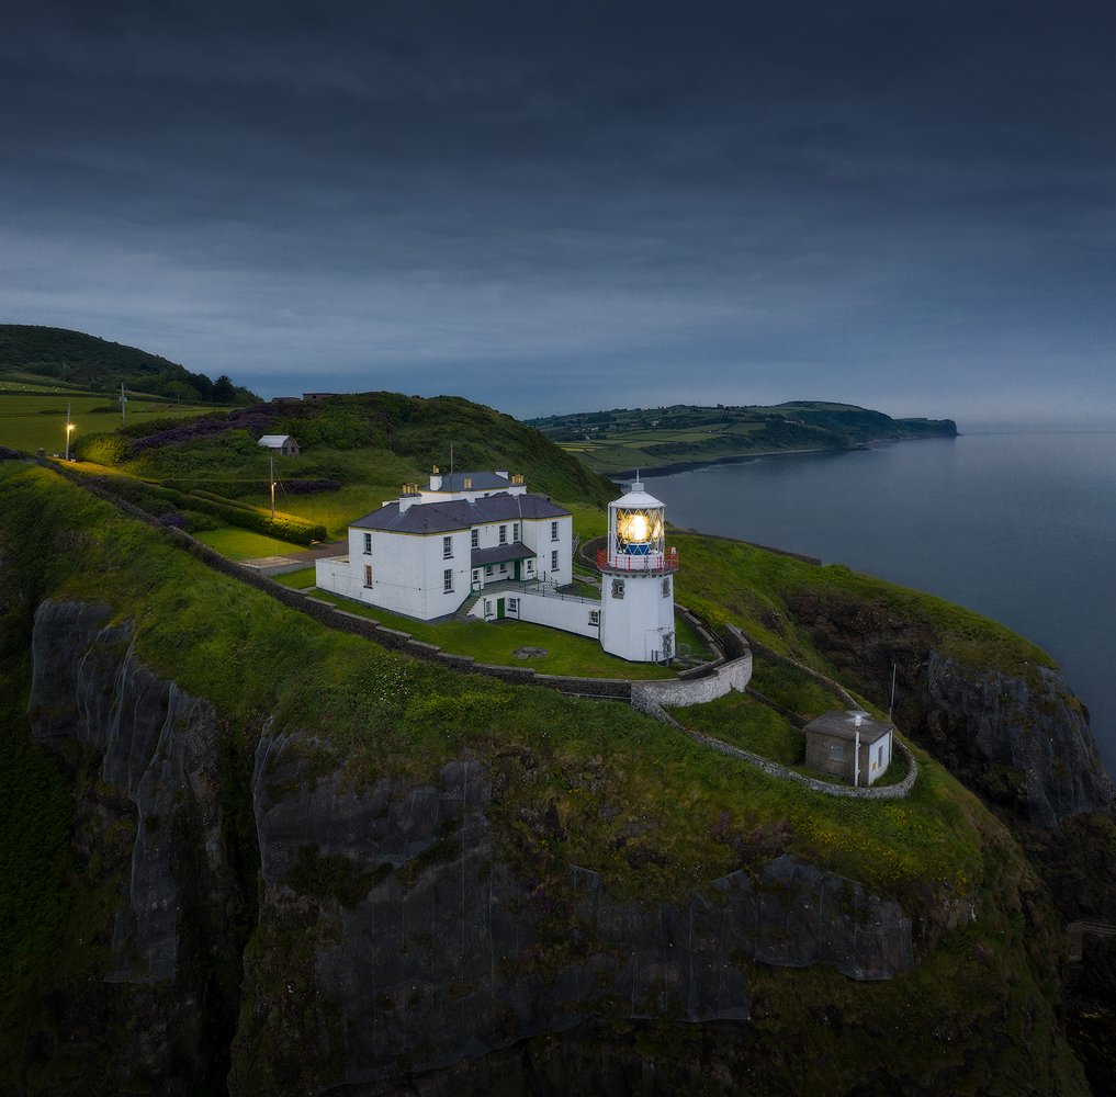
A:
<svg viewBox="0 0 1116 1097">
<path fill-rule="evenodd" d="M 310 738 L 259 739 L 244 789 L 259 879 L 242 876 L 212 705 L 145 668 L 102 606 L 41 605 L 32 654 L 33 733 L 71 770 L 75 843 L 109 894 L 99 978 L 59 995 L 35 1056 L 83 1049 L 88 1093 L 144 1078 L 200 1093 L 230 1064 L 235 1094 L 386 1085 L 594 1017 L 744 1020 L 747 958 L 854 979 L 913 963 L 895 903 L 810 865 L 619 902 L 594 872 L 518 856 L 477 760 L 431 785 L 349 788 Z M 242 956 L 234 922 L 257 886 Z"/>
</svg>

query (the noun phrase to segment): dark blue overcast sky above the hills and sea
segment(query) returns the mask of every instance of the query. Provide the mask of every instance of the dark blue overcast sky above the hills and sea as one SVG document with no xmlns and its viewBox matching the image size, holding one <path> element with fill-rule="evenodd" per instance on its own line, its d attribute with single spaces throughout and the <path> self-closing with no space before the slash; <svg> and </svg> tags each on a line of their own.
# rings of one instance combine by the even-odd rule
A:
<svg viewBox="0 0 1116 1097">
<path fill-rule="evenodd" d="M 1116 426 L 1110 0 L 6 9 L 0 321 L 268 397 Z"/>
</svg>

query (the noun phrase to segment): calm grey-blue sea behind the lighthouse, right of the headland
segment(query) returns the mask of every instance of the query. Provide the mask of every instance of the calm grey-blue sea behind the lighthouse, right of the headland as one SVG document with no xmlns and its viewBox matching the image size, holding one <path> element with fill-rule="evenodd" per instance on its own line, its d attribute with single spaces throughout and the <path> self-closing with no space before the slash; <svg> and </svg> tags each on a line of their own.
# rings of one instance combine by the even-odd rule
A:
<svg viewBox="0 0 1116 1097">
<path fill-rule="evenodd" d="M 1048 651 L 1116 773 L 1116 432 L 966 434 L 648 479 L 667 518 L 819 556 Z"/>
</svg>

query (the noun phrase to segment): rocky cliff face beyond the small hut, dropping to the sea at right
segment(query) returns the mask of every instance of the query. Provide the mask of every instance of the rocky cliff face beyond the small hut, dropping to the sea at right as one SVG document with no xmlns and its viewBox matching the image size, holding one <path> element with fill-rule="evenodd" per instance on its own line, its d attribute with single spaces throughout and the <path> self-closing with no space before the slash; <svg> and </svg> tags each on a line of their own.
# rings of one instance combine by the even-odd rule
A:
<svg viewBox="0 0 1116 1097">
<path fill-rule="evenodd" d="M 1088 713 L 1056 672 L 1035 666 L 1024 681 L 961 666 L 929 625 L 864 603 L 802 595 L 790 605 L 869 695 L 886 697 L 895 665 L 899 726 L 982 796 L 1045 828 L 1112 802 Z"/>
</svg>

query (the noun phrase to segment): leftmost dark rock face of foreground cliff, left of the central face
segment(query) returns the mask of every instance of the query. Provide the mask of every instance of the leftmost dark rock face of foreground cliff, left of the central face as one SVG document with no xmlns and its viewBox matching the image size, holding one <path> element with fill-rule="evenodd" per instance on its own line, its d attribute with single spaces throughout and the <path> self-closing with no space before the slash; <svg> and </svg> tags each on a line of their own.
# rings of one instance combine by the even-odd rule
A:
<svg viewBox="0 0 1116 1097">
<path fill-rule="evenodd" d="M 57 1030 L 40 1033 L 38 1050 L 76 1050 L 89 1093 L 150 1077 L 166 1079 L 162 1093 L 193 1094 L 220 1066 L 219 969 L 237 963 L 217 714 L 152 674 L 129 629 L 107 622 L 95 605 L 44 603 L 36 614 L 32 731 L 71 770 L 79 860 L 114 895 L 94 930 L 103 982 L 58 997 Z"/>
</svg>

